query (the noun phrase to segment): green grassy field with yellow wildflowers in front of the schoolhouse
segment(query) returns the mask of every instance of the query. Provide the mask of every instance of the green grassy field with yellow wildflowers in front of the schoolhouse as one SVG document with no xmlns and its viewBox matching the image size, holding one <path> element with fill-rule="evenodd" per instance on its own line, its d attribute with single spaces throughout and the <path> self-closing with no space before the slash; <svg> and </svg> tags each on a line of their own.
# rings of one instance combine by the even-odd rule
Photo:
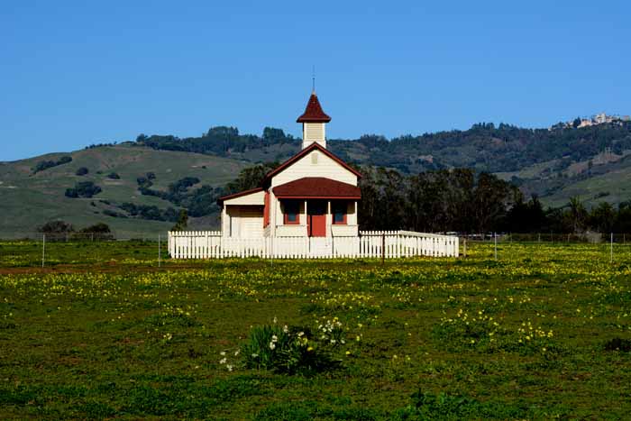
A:
<svg viewBox="0 0 631 421">
<path fill-rule="evenodd" d="M 613 264 L 608 247 L 584 244 L 501 244 L 498 261 L 488 245 L 470 244 L 466 259 L 384 265 L 159 268 L 157 244 L 137 242 L 52 243 L 41 269 L 40 252 L 37 243 L 0 243 L 2 419 L 631 412 L 629 246 L 615 246 Z M 297 370 L 252 366 L 266 352 L 288 362 L 267 342 L 253 348 L 264 325 L 279 348 L 305 341 L 289 361 Z"/>
</svg>

